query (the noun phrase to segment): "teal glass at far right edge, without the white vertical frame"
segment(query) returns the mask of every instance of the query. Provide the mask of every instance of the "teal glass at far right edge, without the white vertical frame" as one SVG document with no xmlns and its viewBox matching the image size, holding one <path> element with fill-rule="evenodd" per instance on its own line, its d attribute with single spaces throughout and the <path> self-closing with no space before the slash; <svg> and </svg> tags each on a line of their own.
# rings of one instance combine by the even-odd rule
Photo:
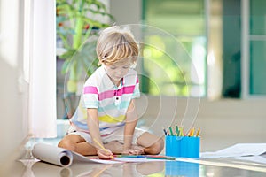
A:
<svg viewBox="0 0 266 177">
<path fill-rule="evenodd" d="M 266 72 L 263 72 L 266 67 L 266 1 L 249 2 L 249 94 L 259 96 L 266 94 Z"/>
</svg>

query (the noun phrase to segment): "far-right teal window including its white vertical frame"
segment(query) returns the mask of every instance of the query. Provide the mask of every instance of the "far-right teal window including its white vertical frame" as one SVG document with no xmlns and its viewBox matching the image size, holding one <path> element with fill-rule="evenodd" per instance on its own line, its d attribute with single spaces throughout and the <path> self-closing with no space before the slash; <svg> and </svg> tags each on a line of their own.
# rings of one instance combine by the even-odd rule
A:
<svg viewBox="0 0 266 177">
<path fill-rule="evenodd" d="M 265 96 L 266 2 L 242 1 L 242 96 Z"/>
</svg>

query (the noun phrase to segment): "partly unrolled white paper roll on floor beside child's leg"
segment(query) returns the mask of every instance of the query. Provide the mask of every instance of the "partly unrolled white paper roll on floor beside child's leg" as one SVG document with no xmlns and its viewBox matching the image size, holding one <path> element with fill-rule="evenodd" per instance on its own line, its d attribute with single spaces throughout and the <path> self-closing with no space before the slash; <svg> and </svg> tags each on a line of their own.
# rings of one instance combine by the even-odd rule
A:
<svg viewBox="0 0 266 177">
<path fill-rule="evenodd" d="M 101 160 L 97 158 L 88 158 L 74 151 L 65 150 L 57 146 L 52 146 L 50 144 L 45 144 L 45 143 L 35 144 L 32 150 L 32 155 L 35 158 L 42 160 L 44 162 L 48 162 L 54 165 L 65 166 L 65 167 L 72 165 L 73 161 L 101 163 L 101 164 L 121 163 L 119 161 L 113 161 L 113 160 Z"/>
</svg>

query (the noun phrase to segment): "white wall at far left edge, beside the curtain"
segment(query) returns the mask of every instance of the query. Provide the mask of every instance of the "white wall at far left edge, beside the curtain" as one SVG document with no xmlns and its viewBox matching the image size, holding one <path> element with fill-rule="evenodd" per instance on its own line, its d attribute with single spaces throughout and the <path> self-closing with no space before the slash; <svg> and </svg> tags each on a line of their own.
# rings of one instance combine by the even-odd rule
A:
<svg viewBox="0 0 266 177">
<path fill-rule="evenodd" d="M 27 84 L 23 69 L 23 1 L 0 1 L 0 173 L 20 155 L 27 137 Z"/>
</svg>

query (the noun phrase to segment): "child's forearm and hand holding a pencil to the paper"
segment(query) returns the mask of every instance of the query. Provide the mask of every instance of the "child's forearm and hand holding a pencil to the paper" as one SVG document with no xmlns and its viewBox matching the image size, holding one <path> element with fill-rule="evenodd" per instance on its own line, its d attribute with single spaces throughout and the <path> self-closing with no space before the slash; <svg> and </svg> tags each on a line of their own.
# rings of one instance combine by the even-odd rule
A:
<svg viewBox="0 0 266 177">
<path fill-rule="evenodd" d="M 100 137 L 99 124 L 98 124 L 98 110 L 89 108 L 87 109 L 87 124 L 90 130 L 90 137 L 97 150 L 99 158 L 112 158 L 113 153 L 111 150 L 103 149 L 103 142 Z"/>
</svg>

